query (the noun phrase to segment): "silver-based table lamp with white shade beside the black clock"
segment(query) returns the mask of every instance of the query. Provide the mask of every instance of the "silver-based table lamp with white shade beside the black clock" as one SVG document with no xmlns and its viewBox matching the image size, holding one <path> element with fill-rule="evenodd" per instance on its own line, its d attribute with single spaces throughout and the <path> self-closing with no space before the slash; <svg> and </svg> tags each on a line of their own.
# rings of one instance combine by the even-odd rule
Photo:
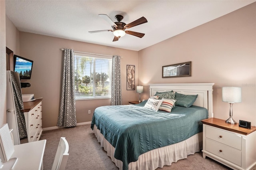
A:
<svg viewBox="0 0 256 170">
<path fill-rule="evenodd" d="M 242 101 L 241 87 L 222 87 L 222 101 L 228 102 L 230 105 L 229 118 L 226 123 L 236 124 L 233 116 L 233 103 L 240 103 Z"/>
</svg>

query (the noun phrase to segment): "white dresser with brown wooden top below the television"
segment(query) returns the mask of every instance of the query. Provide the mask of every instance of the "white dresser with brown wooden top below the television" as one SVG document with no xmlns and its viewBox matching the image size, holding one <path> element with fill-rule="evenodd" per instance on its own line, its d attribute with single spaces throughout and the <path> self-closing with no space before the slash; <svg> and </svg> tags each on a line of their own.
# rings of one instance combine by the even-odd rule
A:
<svg viewBox="0 0 256 170">
<path fill-rule="evenodd" d="M 24 102 L 24 116 L 28 142 L 37 141 L 42 135 L 42 99 Z"/>
</svg>

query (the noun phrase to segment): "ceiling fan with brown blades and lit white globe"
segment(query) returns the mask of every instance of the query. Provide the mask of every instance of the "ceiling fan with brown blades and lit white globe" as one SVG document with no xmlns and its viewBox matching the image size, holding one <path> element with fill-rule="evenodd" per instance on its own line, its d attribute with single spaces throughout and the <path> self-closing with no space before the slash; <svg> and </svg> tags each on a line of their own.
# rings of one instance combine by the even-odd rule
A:
<svg viewBox="0 0 256 170">
<path fill-rule="evenodd" d="M 148 22 L 146 18 L 143 16 L 139 18 L 138 20 L 131 22 L 130 24 L 125 24 L 124 22 L 121 22 L 122 19 L 124 18 L 121 15 L 116 15 L 116 20 L 118 22 L 112 21 L 109 16 L 106 14 L 99 14 L 100 17 L 104 18 L 107 22 L 111 24 L 111 27 L 113 30 L 99 30 L 99 31 L 89 31 L 89 33 L 96 33 L 96 32 L 106 32 L 106 31 L 111 31 L 114 33 L 114 39 L 113 42 L 118 41 L 120 37 L 124 36 L 125 34 L 130 34 L 132 36 L 136 36 L 139 38 L 142 38 L 145 34 L 139 33 L 139 32 L 133 32 L 133 31 L 126 31 L 126 28 L 132 28 L 134 26 L 138 26 L 140 24 L 144 24 Z"/>
</svg>

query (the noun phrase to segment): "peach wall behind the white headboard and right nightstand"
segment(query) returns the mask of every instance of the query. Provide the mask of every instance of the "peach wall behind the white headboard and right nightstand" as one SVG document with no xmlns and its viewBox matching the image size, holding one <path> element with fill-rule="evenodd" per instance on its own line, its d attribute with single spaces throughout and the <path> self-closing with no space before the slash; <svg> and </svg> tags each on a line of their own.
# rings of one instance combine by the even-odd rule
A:
<svg viewBox="0 0 256 170">
<path fill-rule="evenodd" d="M 170 30 L 171 31 L 171 30 Z M 162 78 L 162 66 L 192 61 L 192 77 Z M 256 2 L 139 51 L 139 83 L 215 83 L 214 117 L 228 119 L 222 87 L 242 87 L 236 121 L 256 125 Z M 147 99 L 146 87 L 142 98 Z"/>
</svg>

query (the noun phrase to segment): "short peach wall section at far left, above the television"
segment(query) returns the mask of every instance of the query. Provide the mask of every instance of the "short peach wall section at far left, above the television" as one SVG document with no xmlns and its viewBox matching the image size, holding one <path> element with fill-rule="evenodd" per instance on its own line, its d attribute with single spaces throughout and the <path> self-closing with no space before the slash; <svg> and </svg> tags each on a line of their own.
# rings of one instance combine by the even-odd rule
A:
<svg viewBox="0 0 256 170">
<path fill-rule="evenodd" d="M 14 54 L 20 54 L 20 32 L 12 21 L 6 16 L 6 47 Z"/>
</svg>

